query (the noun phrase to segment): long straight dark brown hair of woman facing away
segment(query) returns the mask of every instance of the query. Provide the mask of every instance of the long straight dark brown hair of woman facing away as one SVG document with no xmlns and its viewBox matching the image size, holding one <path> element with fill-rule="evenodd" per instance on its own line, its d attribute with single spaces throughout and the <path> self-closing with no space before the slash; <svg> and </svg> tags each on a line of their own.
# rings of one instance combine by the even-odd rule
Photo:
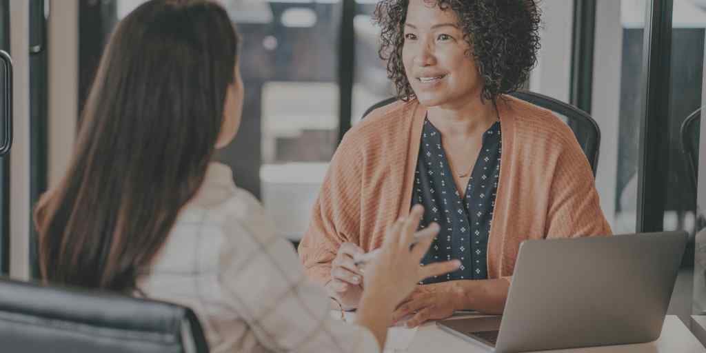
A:
<svg viewBox="0 0 706 353">
<path fill-rule="evenodd" d="M 68 172 L 35 209 L 44 280 L 135 287 L 201 186 L 238 45 L 205 0 L 148 1 L 117 25 Z"/>
</svg>

